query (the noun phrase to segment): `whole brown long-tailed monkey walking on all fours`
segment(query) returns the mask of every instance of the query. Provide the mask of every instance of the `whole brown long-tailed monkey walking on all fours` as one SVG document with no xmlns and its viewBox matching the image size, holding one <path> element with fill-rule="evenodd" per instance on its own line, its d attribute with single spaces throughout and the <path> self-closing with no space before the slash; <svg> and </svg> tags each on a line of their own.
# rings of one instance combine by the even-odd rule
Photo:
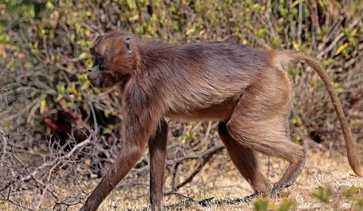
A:
<svg viewBox="0 0 363 211">
<path fill-rule="evenodd" d="M 289 62 L 305 62 L 321 77 L 343 128 L 350 166 L 361 176 L 337 93 L 322 66 L 303 52 L 264 51 L 228 42 L 168 45 L 112 31 L 91 53 L 95 56 L 88 74 L 91 84 L 118 86 L 123 92 L 123 147 L 81 210 L 97 210 L 147 143 L 151 208 L 160 207 L 168 133 L 164 117 L 220 121 L 220 138 L 256 193 L 275 193 L 290 186 L 301 173 L 307 152 L 286 133 L 290 81 L 285 66 Z M 272 189 L 258 170 L 253 151 L 290 162 Z"/>
</svg>

